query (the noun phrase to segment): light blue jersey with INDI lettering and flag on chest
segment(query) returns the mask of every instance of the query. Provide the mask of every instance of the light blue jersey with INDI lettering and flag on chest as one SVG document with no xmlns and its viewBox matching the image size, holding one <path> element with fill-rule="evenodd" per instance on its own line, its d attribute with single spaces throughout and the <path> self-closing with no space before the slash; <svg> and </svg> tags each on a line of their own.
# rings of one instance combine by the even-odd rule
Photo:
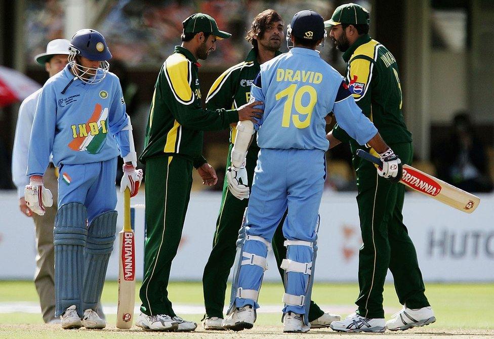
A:
<svg viewBox="0 0 494 339">
<path fill-rule="evenodd" d="M 60 166 L 105 161 L 130 152 L 132 127 L 118 77 L 108 72 L 99 83 L 76 79 L 67 87 L 74 78 L 69 67 L 48 79 L 39 96 L 29 142 L 28 176 L 43 175 L 50 154 Z"/>
</svg>

